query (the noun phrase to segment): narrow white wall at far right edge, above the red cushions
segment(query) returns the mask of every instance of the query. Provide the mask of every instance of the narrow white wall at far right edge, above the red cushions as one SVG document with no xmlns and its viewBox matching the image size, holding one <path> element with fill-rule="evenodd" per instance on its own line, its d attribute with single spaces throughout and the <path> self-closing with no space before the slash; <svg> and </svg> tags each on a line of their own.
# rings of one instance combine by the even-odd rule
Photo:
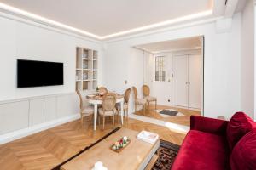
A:
<svg viewBox="0 0 256 170">
<path fill-rule="evenodd" d="M 241 111 L 245 111 L 252 118 L 254 117 L 253 0 L 247 1 L 241 14 Z"/>
</svg>

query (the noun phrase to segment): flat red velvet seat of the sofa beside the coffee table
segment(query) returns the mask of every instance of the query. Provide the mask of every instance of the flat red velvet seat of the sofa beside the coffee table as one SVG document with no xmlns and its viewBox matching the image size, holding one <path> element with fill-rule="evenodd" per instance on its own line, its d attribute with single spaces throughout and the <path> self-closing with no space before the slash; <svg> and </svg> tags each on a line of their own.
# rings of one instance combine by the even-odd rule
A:
<svg viewBox="0 0 256 170">
<path fill-rule="evenodd" d="M 190 130 L 172 170 L 229 169 L 229 150 L 223 136 Z"/>
</svg>

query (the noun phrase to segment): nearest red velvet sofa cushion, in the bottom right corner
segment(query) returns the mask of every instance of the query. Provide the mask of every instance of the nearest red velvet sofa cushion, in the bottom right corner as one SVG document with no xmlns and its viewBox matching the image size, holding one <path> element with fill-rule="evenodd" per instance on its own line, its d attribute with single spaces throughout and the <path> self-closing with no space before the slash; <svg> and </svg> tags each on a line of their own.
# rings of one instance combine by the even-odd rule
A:
<svg viewBox="0 0 256 170">
<path fill-rule="evenodd" d="M 256 129 L 244 135 L 232 150 L 230 156 L 232 170 L 256 169 Z"/>
</svg>

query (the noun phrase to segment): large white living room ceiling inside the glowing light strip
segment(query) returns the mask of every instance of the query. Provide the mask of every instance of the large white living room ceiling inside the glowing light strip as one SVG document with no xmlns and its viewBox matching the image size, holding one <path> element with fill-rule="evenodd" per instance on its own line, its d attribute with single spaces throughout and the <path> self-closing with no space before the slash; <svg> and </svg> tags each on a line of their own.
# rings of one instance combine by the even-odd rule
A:
<svg viewBox="0 0 256 170">
<path fill-rule="evenodd" d="M 212 9 L 213 0 L 0 0 L 99 37 Z"/>
</svg>

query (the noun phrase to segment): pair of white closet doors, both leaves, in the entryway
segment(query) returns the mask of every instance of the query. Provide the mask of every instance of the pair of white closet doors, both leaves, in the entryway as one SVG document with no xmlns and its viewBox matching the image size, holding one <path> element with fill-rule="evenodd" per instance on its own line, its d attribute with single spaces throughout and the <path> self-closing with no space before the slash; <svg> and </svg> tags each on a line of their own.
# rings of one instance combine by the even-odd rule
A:
<svg viewBox="0 0 256 170">
<path fill-rule="evenodd" d="M 173 57 L 173 105 L 201 109 L 201 54 Z"/>
</svg>

